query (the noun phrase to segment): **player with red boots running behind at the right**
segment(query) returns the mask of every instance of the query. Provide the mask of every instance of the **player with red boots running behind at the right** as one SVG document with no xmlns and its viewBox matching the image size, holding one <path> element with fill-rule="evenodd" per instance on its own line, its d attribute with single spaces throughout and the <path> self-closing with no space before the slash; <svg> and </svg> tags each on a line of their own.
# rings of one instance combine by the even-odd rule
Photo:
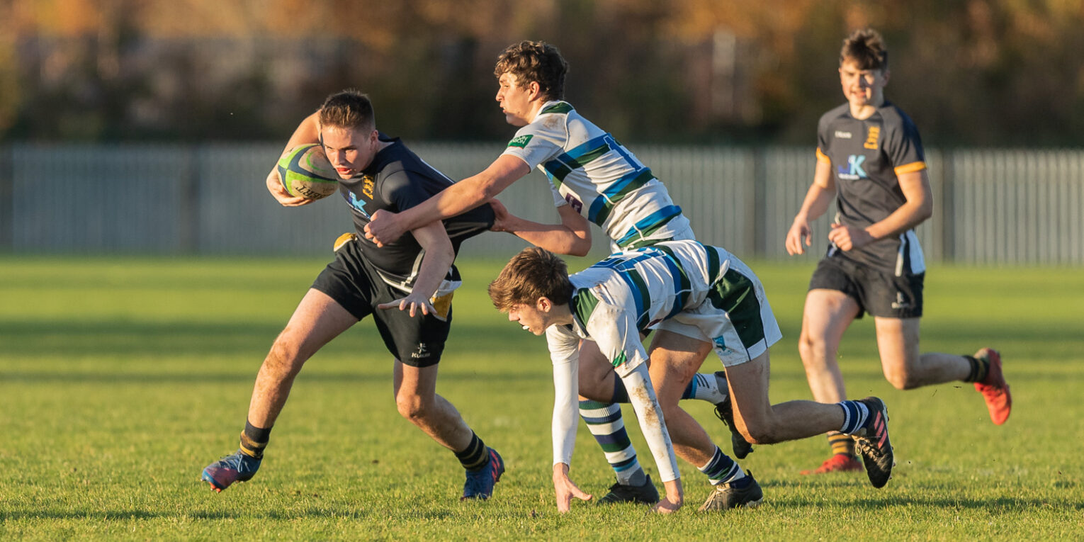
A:
<svg viewBox="0 0 1084 542">
<path fill-rule="evenodd" d="M 830 246 L 810 279 L 799 339 L 813 398 L 844 396 L 836 352 L 851 322 L 868 312 L 889 383 L 898 389 L 975 383 L 991 420 L 1004 424 L 1012 398 L 996 350 L 918 350 L 926 264 L 914 228 L 932 214 L 933 197 L 918 130 L 885 99 L 888 50 L 876 30 L 856 30 L 843 41 L 839 78 L 847 103 L 821 117 L 813 184 L 786 237 L 789 254 L 803 254 L 810 222 L 837 198 Z M 828 442 L 833 456 L 803 474 L 862 469 L 850 437 L 831 433 Z"/>
</svg>

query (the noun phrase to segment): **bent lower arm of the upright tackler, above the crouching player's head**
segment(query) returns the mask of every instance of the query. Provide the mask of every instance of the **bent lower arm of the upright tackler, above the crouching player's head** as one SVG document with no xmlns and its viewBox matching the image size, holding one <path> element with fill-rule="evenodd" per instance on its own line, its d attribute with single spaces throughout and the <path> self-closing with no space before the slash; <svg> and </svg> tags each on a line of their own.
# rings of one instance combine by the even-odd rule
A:
<svg viewBox="0 0 1084 542">
<path fill-rule="evenodd" d="M 555 254 L 586 256 L 591 251 L 591 223 L 570 205 L 557 207 L 557 214 L 560 215 L 559 224 L 543 224 L 508 212 L 508 209 L 496 199 L 490 199 L 489 204 L 496 215 L 491 228 L 495 232 L 512 233 Z"/>
</svg>

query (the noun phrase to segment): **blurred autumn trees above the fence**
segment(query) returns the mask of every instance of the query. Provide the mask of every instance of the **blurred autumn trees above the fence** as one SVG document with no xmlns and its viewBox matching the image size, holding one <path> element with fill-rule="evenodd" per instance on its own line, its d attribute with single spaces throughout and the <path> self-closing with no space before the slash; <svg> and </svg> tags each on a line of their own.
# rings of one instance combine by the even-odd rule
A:
<svg viewBox="0 0 1084 542">
<path fill-rule="evenodd" d="M 505 139 L 493 63 L 543 39 L 622 139 L 809 145 L 867 25 L 928 142 L 1084 144 L 1084 0 L 5 0 L 0 134 L 280 140 L 356 87 L 391 133 Z"/>
</svg>

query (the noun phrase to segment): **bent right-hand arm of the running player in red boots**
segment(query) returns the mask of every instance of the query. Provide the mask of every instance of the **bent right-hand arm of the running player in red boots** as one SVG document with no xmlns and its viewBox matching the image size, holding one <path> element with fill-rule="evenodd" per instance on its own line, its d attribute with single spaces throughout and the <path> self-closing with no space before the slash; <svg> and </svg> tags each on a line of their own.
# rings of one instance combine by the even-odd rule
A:
<svg viewBox="0 0 1084 542">
<path fill-rule="evenodd" d="M 900 190 L 906 202 L 900 208 L 874 222 L 865 229 L 852 225 L 831 224 L 828 240 L 841 250 L 860 248 L 885 237 L 899 235 L 930 218 L 933 214 L 933 195 L 926 170 L 911 171 L 898 176 Z"/>
</svg>

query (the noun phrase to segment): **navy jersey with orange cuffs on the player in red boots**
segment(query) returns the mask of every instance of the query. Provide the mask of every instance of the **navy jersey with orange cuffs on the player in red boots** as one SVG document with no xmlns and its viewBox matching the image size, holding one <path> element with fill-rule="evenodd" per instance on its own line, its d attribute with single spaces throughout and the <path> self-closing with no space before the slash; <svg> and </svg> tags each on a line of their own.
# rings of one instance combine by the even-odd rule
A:
<svg viewBox="0 0 1084 542">
<path fill-rule="evenodd" d="M 851 116 L 846 103 L 825 113 L 817 125 L 816 157 L 831 164 L 836 221 L 855 228 L 879 222 L 906 203 L 898 175 L 926 169 L 918 129 L 889 102 L 863 120 Z M 828 256 L 848 258 L 896 275 L 926 270 L 914 230 L 849 251 L 831 246 Z"/>
</svg>

